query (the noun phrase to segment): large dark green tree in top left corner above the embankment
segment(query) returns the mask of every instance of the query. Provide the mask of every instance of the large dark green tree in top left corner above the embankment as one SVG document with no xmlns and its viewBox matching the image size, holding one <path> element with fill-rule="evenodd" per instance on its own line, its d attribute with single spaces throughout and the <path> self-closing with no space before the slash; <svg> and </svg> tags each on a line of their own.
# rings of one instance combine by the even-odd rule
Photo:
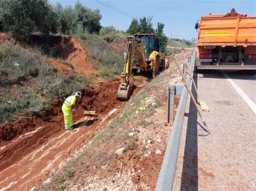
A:
<svg viewBox="0 0 256 191">
<path fill-rule="evenodd" d="M 26 36 L 33 31 L 57 31 L 55 10 L 45 0 L 1 0 L 0 7 L 4 31 Z"/>
</svg>

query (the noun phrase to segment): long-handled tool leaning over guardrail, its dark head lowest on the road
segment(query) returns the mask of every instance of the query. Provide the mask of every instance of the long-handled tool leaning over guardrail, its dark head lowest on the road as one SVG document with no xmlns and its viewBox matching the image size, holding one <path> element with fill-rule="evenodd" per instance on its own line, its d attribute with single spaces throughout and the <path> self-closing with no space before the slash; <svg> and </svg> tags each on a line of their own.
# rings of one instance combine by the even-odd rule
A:
<svg viewBox="0 0 256 191">
<path fill-rule="evenodd" d="M 195 98 L 194 98 L 194 96 L 193 96 L 193 94 L 192 94 L 192 92 L 191 92 L 191 90 L 190 90 L 190 88 L 189 88 L 189 86 L 188 86 L 188 84 L 187 84 L 187 82 L 186 82 L 185 76 L 183 75 L 183 72 L 182 72 L 182 70 L 181 70 L 181 68 L 180 68 L 180 66 L 179 66 L 179 64 L 178 64 L 178 62 L 177 62 L 177 60 L 176 60 L 176 57 L 174 57 L 174 60 L 175 60 L 175 63 L 176 63 L 176 65 L 177 65 L 178 69 L 179 69 L 179 72 L 180 72 L 180 74 L 181 74 L 181 76 L 182 76 L 182 78 L 183 78 L 184 86 L 187 88 L 188 93 L 190 93 L 190 96 L 191 96 L 191 98 L 192 98 L 192 101 L 193 101 L 193 103 L 194 103 L 194 106 L 196 107 L 197 112 L 198 112 L 198 114 L 199 114 L 199 116 L 200 116 L 200 118 L 201 118 L 201 121 L 203 122 L 203 124 L 204 124 L 204 126 L 205 126 L 205 128 L 202 128 L 202 129 L 204 130 L 203 132 L 198 131 L 198 135 L 199 135 L 199 136 L 208 136 L 208 135 L 211 134 L 211 132 L 210 132 L 210 131 L 208 130 L 208 128 L 207 128 L 207 125 L 206 125 L 206 123 L 205 123 L 205 121 L 204 121 L 204 119 L 203 119 L 203 116 L 201 115 L 200 109 L 198 109 L 197 101 L 195 100 Z"/>
</svg>

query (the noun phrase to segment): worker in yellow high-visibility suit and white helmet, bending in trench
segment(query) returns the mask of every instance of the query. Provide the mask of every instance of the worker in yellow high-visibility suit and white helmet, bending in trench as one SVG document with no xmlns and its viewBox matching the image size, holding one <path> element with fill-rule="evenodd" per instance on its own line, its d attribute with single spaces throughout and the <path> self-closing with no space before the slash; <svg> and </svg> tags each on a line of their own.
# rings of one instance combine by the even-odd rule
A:
<svg viewBox="0 0 256 191">
<path fill-rule="evenodd" d="M 75 95 L 69 96 L 66 98 L 65 102 L 62 105 L 62 112 L 64 114 L 64 124 L 65 130 L 72 130 L 73 126 L 73 115 L 72 109 L 76 107 L 76 100 L 82 98 L 80 91 L 77 91 Z"/>
</svg>

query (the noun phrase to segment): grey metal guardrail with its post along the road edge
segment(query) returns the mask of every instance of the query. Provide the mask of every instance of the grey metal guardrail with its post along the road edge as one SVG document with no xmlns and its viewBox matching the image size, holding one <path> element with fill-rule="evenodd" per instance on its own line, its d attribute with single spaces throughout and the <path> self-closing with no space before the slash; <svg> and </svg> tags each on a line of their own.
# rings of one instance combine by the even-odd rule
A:
<svg viewBox="0 0 256 191">
<path fill-rule="evenodd" d="M 193 49 L 192 53 L 188 57 L 188 65 L 190 65 L 190 73 L 192 73 L 193 71 L 195 61 L 196 61 L 196 48 Z M 186 76 L 186 82 L 187 84 L 191 83 L 190 75 Z M 168 119 L 170 121 L 173 120 L 174 95 L 178 94 L 178 92 L 181 91 L 180 85 L 178 86 L 174 84 L 174 85 L 170 85 L 168 88 L 169 89 Z M 177 89 L 177 91 L 175 89 Z M 156 190 L 158 191 L 172 190 L 172 187 L 173 187 L 174 176 L 176 172 L 176 164 L 178 159 L 178 152 L 179 152 L 181 130 L 183 126 L 185 109 L 186 109 L 187 95 L 188 95 L 188 91 L 183 86 L 178 109 L 177 109 L 176 116 L 172 126 L 171 135 L 166 147 L 163 164 L 161 166 L 160 174 L 158 176 L 158 181 L 156 186 Z"/>
</svg>

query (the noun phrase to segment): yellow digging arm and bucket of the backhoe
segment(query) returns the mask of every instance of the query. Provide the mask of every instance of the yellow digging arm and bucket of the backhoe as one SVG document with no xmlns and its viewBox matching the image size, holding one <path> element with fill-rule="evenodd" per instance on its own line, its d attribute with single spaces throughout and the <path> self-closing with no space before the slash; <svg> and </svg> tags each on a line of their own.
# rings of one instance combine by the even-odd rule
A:
<svg viewBox="0 0 256 191">
<path fill-rule="evenodd" d="M 140 38 L 135 38 L 134 36 L 129 36 L 127 38 L 127 46 L 124 58 L 124 70 L 121 74 L 122 83 L 119 85 L 117 96 L 120 100 L 129 100 L 131 96 L 130 87 L 130 76 L 132 73 L 132 66 L 134 62 L 134 53 L 138 54 L 138 60 L 140 62 L 140 67 L 146 69 L 146 59 L 144 55 L 143 40 Z"/>
</svg>

